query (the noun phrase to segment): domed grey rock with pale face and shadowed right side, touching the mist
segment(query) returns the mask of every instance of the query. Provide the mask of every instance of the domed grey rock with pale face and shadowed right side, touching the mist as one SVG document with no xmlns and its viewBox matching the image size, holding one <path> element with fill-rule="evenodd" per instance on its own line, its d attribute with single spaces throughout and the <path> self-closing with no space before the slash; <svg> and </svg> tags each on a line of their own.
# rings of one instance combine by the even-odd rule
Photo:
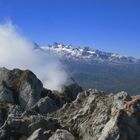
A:
<svg viewBox="0 0 140 140">
<path fill-rule="evenodd" d="M 42 83 L 30 71 L 24 71 L 19 85 L 19 102 L 23 109 L 33 106 L 41 97 Z"/>
</svg>

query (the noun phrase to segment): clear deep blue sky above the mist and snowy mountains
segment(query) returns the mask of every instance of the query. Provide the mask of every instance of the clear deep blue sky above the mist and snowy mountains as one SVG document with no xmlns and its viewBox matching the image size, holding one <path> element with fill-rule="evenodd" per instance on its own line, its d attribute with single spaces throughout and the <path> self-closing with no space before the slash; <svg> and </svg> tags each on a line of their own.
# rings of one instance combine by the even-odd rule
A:
<svg viewBox="0 0 140 140">
<path fill-rule="evenodd" d="M 0 22 L 6 20 L 39 44 L 85 45 L 140 58 L 140 0 L 0 0 Z"/>
</svg>

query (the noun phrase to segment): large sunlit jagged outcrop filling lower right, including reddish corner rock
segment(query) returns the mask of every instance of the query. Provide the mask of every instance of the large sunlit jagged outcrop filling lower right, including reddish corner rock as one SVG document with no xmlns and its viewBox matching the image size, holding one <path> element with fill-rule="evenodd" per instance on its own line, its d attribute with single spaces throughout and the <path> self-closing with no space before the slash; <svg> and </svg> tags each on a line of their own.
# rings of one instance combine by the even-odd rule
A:
<svg viewBox="0 0 140 140">
<path fill-rule="evenodd" d="M 53 115 L 78 140 L 138 140 L 140 97 L 132 99 L 126 95 L 124 92 L 105 95 L 94 90 L 84 91 Z"/>
</svg>

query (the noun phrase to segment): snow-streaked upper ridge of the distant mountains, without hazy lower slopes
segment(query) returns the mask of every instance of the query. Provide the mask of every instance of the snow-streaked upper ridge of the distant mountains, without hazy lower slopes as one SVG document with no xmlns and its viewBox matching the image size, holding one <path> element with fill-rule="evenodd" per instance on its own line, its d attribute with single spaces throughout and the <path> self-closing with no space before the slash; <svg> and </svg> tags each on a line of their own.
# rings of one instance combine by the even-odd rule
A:
<svg viewBox="0 0 140 140">
<path fill-rule="evenodd" d="M 84 60 L 88 62 L 111 62 L 111 63 L 137 63 L 139 60 L 134 57 L 122 56 L 116 53 L 108 53 L 90 47 L 73 47 L 54 43 L 53 45 L 41 46 L 44 51 L 51 51 L 59 57 Z"/>
</svg>

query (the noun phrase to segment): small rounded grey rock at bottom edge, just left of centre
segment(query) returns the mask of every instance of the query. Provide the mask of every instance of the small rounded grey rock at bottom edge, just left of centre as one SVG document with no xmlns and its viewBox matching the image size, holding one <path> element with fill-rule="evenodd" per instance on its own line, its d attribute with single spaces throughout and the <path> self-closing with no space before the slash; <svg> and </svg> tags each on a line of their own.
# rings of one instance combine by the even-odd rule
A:
<svg viewBox="0 0 140 140">
<path fill-rule="evenodd" d="M 49 140 L 75 140 L 74 136 L 67 130 L 58 129 L 56 132 L 49 138 Z"/>
</svg>

